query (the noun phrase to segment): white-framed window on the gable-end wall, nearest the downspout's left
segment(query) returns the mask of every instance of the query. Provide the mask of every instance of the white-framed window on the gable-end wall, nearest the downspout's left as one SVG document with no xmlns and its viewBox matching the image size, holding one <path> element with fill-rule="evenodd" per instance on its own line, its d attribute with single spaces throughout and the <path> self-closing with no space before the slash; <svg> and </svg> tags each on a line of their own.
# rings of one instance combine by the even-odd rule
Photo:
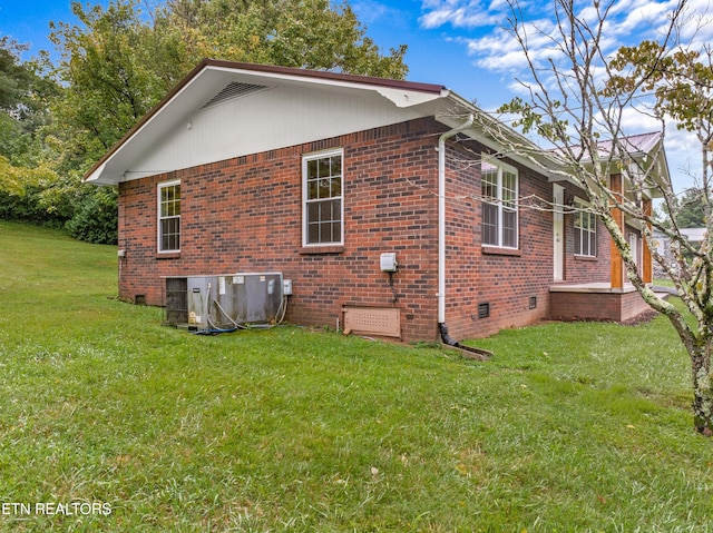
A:
<svg viewBox="0 0 713 533">
<path fill-rule="evenodd" d="M 304 246 L 343 244 L 343 150 L 302 158 Z"/>
</svg>

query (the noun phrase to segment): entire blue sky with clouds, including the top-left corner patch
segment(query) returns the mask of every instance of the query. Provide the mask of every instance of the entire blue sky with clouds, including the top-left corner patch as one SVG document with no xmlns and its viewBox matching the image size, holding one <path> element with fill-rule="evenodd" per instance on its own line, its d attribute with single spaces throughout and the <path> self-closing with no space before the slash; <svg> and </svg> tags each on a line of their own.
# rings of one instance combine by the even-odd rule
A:
<svg viewBox="0 0 713 533">
<path fill-rule="evenodd" d="M 107 0 L 100 0 L 106 4 Z M 147 0 L 155 3 L 157 0 Z M 528 20 L 539 29 L 556 28 L 549 1 L 520 0 Z M 704 13 L 709 0 L 691 0 L 692 13 Z M 86 3 L 86 2 L 85 2 Z M 96 0 L 90 3 L 97 3 Z M 339 3 L 339 2 L 338 2 Z M 408 79 L 441 83 L 486 110 L 494 110 L 522 88 L 517 79 L 526 76 L 526 65 L 519 46 L 504 31 L 507 23 L 506 0 L 350 0 L 368 36 L 382 48 L 408 45 L 406 57 Z M 583 2 L 583 7 L 589 2 Z M 645 38 L 660 37 L 666 13 L 675 4 L 670 1 L 617 0 L 611 13 L 605 45 L 614 51 L 623 45 L 634 45 Z M 52 50 L 47 40 L 49 21 L 76 22 L 70 0 L 0 0 L 0 36 L 9 34 L 31 45 L 30 56 L 41 49 Z M 583 9 L 583 16 L 586 10 Z M 684 34 L 690 41 L 713 41 L 713 24 L 702 19 L 696 34 Z M 691 24 L 692 26 L 692 24 Z M 545 58 L 551 51 L 547 39 L 533 39 L 535 57 Z M 658 129 L 655 121 L 631 117 L 627 132 Z M 695 165 L 695 139 L 682 135 L 672 126 L 666 130 L 666 151 L 676 188 L 690 185 L 682 169 Z M 695 167 L 691 167 L 695 171 Z"/>
</svg>

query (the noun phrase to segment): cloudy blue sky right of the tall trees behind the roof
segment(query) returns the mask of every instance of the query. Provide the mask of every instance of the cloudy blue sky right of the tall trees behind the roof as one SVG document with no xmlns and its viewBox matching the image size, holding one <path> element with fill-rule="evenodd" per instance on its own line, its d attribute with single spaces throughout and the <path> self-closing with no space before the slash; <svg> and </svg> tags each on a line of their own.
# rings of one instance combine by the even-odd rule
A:
<svg viewBox="0 0 713 533">
<path fill-rule="evenodd" d="M 582 17 L 592 17 L 586 9 L 590 2 L 578 3 Z M 613 53 L 622 46 L 660 39 L 675 3 L 617 0 L 609 13 L 604 51 Z M 409 45 L 409 79 L 442 83 L 488 111 L 515 96 L 529 98 L 518 81 L 528 78 L 529 70 L 520 46 L 506 28 L 510 14 L 507 0 L 352 0 L 351 4 L 379 46 Z M 530 29 L 536 26 L 543 33 L 556 34 L 550 1 L 520 0 L 520 6 L 533 22 Z M 690 0 L 692 23 L 683 31 L 683 41 L 693 46 L 713 42 L 709 9 L 709 0 Z M 536 33 L 531 31 L 528 41 L 535 59 L 553 57 L 551 40 Z M 661 129 L 657 120 L 638 112 L 628 113 L 624 126 L 629 135 Z M 700 144 L 692 134 L 668 122 L 665 146 L 674 188 L 681 191 L 694 184 L 691 174 L 700 176 Z"/>
</svg>

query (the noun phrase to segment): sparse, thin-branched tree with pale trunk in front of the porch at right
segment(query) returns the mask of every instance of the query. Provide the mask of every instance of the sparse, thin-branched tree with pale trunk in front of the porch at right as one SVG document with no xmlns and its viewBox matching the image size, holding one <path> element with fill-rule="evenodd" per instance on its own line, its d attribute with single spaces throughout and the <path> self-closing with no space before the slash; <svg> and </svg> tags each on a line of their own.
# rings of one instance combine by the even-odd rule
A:
<svg viewBox="0 0 713 533">
<path fill-rule="evenodd" d="M 514 99 L 501 110 L 516 113 L 516 124 L 526 132 L 535 131 L 556 147 L 553 154 L 559 164 L 556 172 L 575 180 L 585 191 L 592 211 L 600 218 L 622 256 L 629 282 L 678 333 L 691 358 L 695 428 L 713 435 L 713 225 L 707 177 L 713 149 L 713 69 L 711 55 L 705 49 L 703 52 L 684 49 L 674 41 L 674 37 L 681 34 L 681 24 L 686 23 L 682 17 L 685 0 L 674 7 L 671 26 L 660 41 L 622 48 L 615 57 L 606 50 L 606 29 L 615 12 L 615 1 L 583 6 L 574 0 L 556 0 L 554 33 L 540 31 L 524 20 L 517 0 L 509 2 L 510 30 L 529 66 L 529 79 L 524 85 L 530 99 Z M 541 55 L 537 56 L 529 47 L 535 38 L 551 43 L 550 56 L 544 62 L 539 60 Z M 654 98 L 644 107 L 649 101 L 646 95 Z M 648 166 L 634 165 L 633 152 L 637 148 L 627 140 L 624 117 L 637 110 L 657 117 L 662 128 L 666 120 L 674 118 L 678 127 L 699 136 L 702 203 L 709 225 L 709 239 L 700 247 L 688 243 L 680 231 L 671 184 L 656 179 L 654 170 L 664 155 L 654 155 Z M 498 135 L 497 131 L 494 135 Z M 605 145 L 603 138 L 606 138 Z M 502 141 L 538 164 L 531 145 L 512 138 L 502 138 Z M 602 150 L 603 147 L 606 149 Z M 621 175 L 627 184 L 626 194 L 612 187 L 609 177 L 614 175 Z M 652 216 L 643 201 L 647 191 L 656 191 L 664 198 L 672 217 L 670 227 Z M 690 315 L 658 297 L 644 283 L 616 211 L 641 223 L 654 259 L 673 279 Z M 675 265 L 656 254 L 653 228 L 663 231 L 678 250 Z"/>
</svg>

